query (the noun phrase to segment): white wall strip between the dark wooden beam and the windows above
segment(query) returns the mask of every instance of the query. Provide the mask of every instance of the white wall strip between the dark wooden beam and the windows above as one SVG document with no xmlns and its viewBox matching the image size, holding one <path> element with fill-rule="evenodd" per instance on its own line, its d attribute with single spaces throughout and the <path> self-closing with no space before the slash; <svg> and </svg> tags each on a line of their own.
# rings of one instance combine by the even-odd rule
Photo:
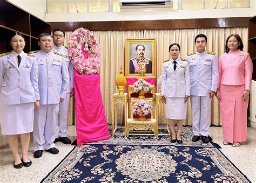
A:
<svg viewBox="0 0 256 183">
<path fill-rule="evenodd" d="M 172 10 L 172 11 L 136 11 L 131 12 L 91 12 L 91 13 L 46 13 L 47 22 L 97 22 L 126 20 L 190 19 L 216 17 L 252 17 L 255 1 L 251 8 L 211 9 L 211 10 Z"/>
</svg>

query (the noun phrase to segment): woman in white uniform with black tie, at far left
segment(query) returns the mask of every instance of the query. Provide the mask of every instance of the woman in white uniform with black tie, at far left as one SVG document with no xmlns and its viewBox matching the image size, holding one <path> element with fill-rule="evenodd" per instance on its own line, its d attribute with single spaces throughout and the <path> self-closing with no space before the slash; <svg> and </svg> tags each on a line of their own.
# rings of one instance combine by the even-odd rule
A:
<svg viewBox="0 0 256 183">
<path fill-rule="evenodd" d="M 11 37 L 10 53 L 0 54 L 0 120 L 2 134 L 8 138 L 14 167 L 32 164 L 28 157 L 34 111 L 39 108 L 38 66 L 32 55 L 23 52 L 25 37 L 18 32 Z M 21 138 L 22 158 L 18 153 Z"/>
</svg>

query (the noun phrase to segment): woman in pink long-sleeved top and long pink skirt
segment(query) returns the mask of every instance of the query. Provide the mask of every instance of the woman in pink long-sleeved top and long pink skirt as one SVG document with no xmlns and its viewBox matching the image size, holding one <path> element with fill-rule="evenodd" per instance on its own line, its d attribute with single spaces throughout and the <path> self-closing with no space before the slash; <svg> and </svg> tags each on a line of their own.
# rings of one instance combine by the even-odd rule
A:
<svg viewBox="0 0 256 183">
<path fill-rule="evenodd" d="M 216 96 L 220 102 L 224 145 L 240 146 L 247 136 L 247 107 L 253 64 L 238 34 L 227 37 L 225 52 L 219 58 L 219 85 Z"/>
</svg>

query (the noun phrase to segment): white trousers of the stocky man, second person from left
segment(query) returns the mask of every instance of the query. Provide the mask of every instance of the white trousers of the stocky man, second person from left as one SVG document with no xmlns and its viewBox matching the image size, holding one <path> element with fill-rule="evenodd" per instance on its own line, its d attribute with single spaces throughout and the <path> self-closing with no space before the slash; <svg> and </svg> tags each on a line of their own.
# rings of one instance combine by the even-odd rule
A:
<svg viewBox="0 0 256 183">
<path fill-rule="evenodd" d="M 40 105 L 35 112 L 33 126 L 34 151 L 48 150 L 55 147 L 55 122 L 59 104 Z"/>
</svg>

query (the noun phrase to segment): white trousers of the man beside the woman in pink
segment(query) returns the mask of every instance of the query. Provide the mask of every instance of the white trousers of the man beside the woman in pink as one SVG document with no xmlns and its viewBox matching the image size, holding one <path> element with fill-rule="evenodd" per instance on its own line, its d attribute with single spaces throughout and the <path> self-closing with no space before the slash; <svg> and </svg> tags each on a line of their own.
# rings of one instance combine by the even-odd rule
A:
<svg viewBox="0 0 256 183">
<path fill-rule="evenodd" d="M 208 136 L 211 124 L 211 101 L 209 96 L 190 96 L 192 107 L 192 129 L 194 135 Z"/>
</svg>

